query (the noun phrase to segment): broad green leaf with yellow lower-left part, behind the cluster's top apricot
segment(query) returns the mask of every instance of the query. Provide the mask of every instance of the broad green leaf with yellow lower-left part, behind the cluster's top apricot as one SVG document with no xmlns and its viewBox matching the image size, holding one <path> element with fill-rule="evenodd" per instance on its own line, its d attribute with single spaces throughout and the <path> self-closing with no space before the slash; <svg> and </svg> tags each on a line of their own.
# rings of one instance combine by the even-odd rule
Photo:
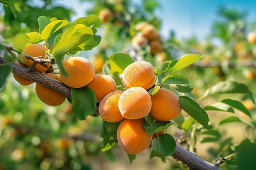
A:
<svg viewBox="0 0 256 170">
<path fill-rule="evenodd" d="M 121 74 L 123 73 L 123 70 L 133 62 L 134 59 L 131 58 L 129 54 L 115 53 L 109 57 L 111 73 L 117 72 L 118 74 Z"/>
</svg>

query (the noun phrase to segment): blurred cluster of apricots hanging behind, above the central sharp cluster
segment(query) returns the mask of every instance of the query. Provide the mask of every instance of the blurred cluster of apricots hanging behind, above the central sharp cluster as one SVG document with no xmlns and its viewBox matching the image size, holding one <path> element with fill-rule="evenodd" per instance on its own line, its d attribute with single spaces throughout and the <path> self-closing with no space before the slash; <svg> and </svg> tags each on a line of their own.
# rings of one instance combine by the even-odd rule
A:
<svg viewBox="0 0 256 170">
<path fill-rule="evenodd" d="M 150 52 L 154 55 L 163 52 L 161 36 L 156 32 L 154 25 L 139 22 L 135 24 L 134 29 L 138 33 L 131 40 L 131 45 L 135 48 L 150 45 Z"/>
</svg>

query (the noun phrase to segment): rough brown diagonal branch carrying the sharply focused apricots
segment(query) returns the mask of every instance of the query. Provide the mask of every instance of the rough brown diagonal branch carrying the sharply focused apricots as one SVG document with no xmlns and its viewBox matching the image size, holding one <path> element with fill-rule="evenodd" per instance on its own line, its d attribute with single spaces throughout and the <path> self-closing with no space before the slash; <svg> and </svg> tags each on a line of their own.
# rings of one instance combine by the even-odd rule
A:
<svg viewBox="0 0 256 170">
<path fill-rule="evenodd" d="M 7 62 L 0 57 L 0 64 L 6 64 Z M 64 83 L 61 83 L 55 79 L 50 78 L 49 76 L 43 75 L 35 72 L 28 71 L 27 68 L 17 65 L 16 63 L 10 63 L 13 66 L 13 73 L 22 76 L 32 82 L 40 83 L 43 86 L 51 88 L 61 94 L 67 96 L 71 99 L 71 88 L 66 86 Z M 96 113 L 98 112 L 98 105 L 96 106 Z M 181 162 L 188 165 L 191 169 L 199 170 L 220 170 L 216 165 L 206 162 L 205 160 L 199 158 L 198 156 L 192 154 L 191 152 L 185 150 L 184 148 L 176 145 L 176 150 L 172 155 L 174 158 L 180 160 Z"/>
</svg>

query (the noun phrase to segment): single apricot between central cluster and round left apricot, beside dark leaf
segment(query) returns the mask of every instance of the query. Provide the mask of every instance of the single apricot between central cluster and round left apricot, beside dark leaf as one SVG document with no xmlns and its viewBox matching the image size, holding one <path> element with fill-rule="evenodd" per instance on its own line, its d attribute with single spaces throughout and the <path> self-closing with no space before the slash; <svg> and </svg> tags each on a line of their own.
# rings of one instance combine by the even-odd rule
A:
<svg viewBox="0 0 256 170">
<path fill-rule="evenodd" d="M 105 74 L 96 74 L 89 84 L 88 87 L 92 88 L 96 94 L 97 103 L 108 95 L 110 92 L 117 90 L 117 84 L 109 75 Z"/>
</svg>

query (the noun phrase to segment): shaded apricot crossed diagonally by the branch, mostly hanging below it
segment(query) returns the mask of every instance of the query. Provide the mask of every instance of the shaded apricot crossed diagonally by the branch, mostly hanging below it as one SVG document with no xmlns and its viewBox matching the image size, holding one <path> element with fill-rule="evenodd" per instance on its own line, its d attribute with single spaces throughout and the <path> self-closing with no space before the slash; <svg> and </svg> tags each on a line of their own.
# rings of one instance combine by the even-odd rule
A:
<svg viewBox="0 0 256 170">
<path fill-rule="evenodd" d="M 61 82 L 60 77 L 57 76 L 56 74 L 47 73 L 46 75 Z M 38 95 L 39 99 L 43 101 L 43 103 L 51 106 L 60 105 L 66 99 L 66 97 L 60 94 L 59 92 L 51 90 L 50 88 L 43 86 L 42 84 L 39 84 L 39 83 L 36 83 L 35 91 L 36 91 L 36 95 Z"/>
</svg>

